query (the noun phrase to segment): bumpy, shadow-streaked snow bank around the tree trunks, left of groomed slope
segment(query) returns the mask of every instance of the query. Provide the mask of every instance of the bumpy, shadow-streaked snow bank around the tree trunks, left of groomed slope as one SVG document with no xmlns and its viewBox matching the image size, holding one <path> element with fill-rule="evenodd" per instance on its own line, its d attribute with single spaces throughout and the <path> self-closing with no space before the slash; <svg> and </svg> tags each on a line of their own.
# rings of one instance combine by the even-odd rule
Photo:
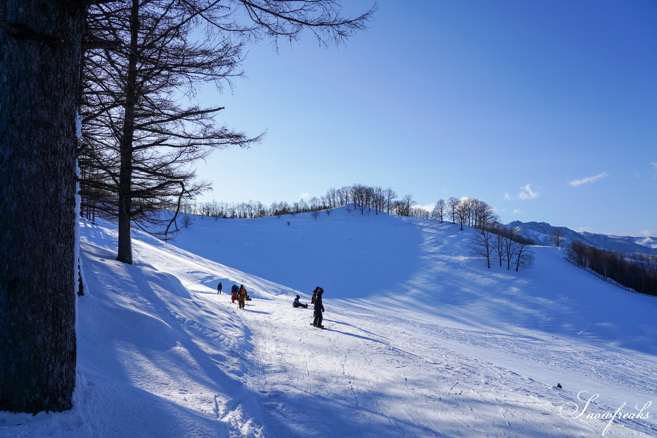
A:
<svg viewBox="0 0 657 438">
<path fill-rule="evenodd" d="M 0 416 L 0 437 L 230 436 L 252 422 L 235 407 L 229 412 L 253 397 L 244 385 L 252 347 L 240 318 L 147 264 L 163 256 L 158 247 L 147 256 L 135 251 L 139 261 L 126 265 L 114 260 L 115 231 L 82 229 L 88 289 L 78 300 L 75 407 Z M 227 271 L 213 281 L 234 274 Z"/>
</svg>

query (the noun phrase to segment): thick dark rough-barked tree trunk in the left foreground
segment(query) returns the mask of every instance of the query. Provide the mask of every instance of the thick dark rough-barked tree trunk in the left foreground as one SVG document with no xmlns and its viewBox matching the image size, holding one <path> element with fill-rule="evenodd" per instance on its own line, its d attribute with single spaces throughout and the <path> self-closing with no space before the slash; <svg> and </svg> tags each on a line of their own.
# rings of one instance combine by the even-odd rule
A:
<svg viewBox="0 0 657 438">
<path fill-rule="evenodd" d="M 0 0 L 0 410 L 72 407 L 82 8 Z"/>
</svg>

